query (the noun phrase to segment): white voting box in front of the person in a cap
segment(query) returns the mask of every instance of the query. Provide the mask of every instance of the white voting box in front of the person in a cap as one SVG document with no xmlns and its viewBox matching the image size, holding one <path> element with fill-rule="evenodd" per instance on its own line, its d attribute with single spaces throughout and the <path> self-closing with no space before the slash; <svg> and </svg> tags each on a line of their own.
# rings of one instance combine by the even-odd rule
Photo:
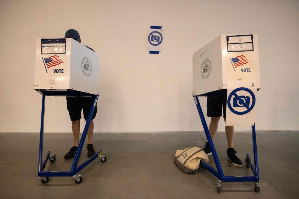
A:
<svg viewBox="0 0 299 199">
<path fill-rule="evenodd" d="M 99 95 L 99 57 L 71 38 L 36 39 L 34 89 Z"/>
</svg>

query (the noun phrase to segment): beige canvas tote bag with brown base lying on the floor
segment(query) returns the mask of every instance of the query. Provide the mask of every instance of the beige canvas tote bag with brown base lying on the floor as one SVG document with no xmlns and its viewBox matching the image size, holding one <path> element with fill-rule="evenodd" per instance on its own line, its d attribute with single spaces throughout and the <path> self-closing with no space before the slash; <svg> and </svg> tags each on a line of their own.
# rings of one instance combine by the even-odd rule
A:
<svg viewBox="0 0 299 199">
<path fill-rule="evenodd" d="M 184 150 L 177 150 L 174 163 L 186 174 L 197 173 L 200 160 L 209 162 L 209 158 L 203 149 L 196 146 Z"/>
</svg>

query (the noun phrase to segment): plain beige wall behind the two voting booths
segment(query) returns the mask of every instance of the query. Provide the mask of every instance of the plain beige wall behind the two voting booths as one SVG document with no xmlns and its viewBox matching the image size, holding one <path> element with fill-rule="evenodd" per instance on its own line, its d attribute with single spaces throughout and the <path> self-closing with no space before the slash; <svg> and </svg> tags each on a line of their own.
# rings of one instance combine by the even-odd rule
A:
<svg viewBox="0 0 299 199">
<path fill-rule="evenodd" d="M 257 130 L 298 130 L 298 10 L 296 0 L 0 1 L 0 131 L 39 131 L 36 38 L 63 37 L 70 28 L 100 56 L 94 131 L 202 131 L 193 53 L 220 34 L 239 33 L 259 37 Z M 159 55 L 147 52 L 151 25 L 164 28 Z M 46 97 L 45 131 L 71 131 L 65 97 Z"/>
</svg>

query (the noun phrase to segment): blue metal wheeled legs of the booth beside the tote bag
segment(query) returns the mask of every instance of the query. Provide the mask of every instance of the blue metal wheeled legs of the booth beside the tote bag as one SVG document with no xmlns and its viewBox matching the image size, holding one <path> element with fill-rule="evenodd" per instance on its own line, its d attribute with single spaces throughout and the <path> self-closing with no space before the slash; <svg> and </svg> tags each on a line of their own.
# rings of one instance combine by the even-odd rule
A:
<svg viewBox="0 0 299 199">
<path fill-rule="evenodd" d="M 253 182 L 254 183 L 254 190 L 256 192 L 260 191 L 260 175 L 259 175 L 259 168 L 258 168 L 258 161 L 257 161 L 257 143 L 256 143 L 256 135 L 255 135 L 255 126 L 252 126 L 252 141 L 253 141 L 253 152 L 254 152 L 254 164 L 251 161 L 251 158 L 249 154 L 246 154 L 245 162 L 246 162 L 246 167 L 249 168 L 251 167 L 251 170 L 253 172 L 253 176 L 225 176 L 223 174 L 218 156 L 216 154 L 216 150 L 213 144 L 213 140 L 210 136 L 209 128 L 208 125 L 205 121 L 204 114 L 202 112 L 202 108 L 200 106 L 198 96 L 194 96 L 195 104 L 199 113 L 199 117 L 202 122 L 202 126 L 205 131 L 205 135 L 207 137 L 208 143 L 210 145 L 213 159 L 216 165 L 217 171 L 207 163 L 205 163 L 203 160 L 201 160 L 200 165 L 203 166 L 205 169 L 207 169 L 210 173 L 212 173 L 215 177 L 218 178 L 217 180 L 217 192 L 221 192 L 222 190 L 222 182 Z"/>
</svg>

